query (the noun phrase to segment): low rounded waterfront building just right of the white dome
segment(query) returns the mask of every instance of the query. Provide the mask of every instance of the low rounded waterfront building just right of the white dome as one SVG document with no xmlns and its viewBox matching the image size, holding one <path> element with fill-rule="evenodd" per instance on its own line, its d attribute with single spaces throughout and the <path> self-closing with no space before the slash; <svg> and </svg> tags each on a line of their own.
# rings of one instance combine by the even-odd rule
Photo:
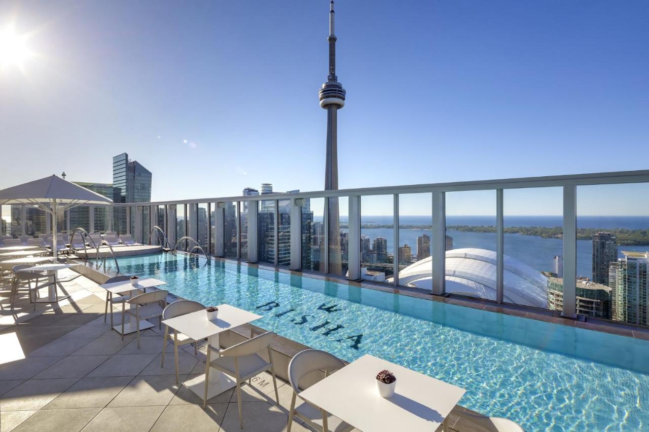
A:
<svg viewBox="0 0 649 432">
<path fill-rule="evenodd" d="M 576 287 L 576 310 L 579 315 L 611 318 L 611 288 L 587 278 L 578 278 Z M 548 277 L 548 309 L 563 311 L 563 278 Z"/>
</svg>

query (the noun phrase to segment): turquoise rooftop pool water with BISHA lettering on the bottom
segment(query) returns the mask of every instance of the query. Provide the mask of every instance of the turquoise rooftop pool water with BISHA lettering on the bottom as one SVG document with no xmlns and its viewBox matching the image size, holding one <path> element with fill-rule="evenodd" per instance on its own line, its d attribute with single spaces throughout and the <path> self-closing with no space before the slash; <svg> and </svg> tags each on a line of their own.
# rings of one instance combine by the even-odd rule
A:
<svg viewBox="0 0 649 432">
<path fill-rule="evenodd" d="M 649 341 L 182 254 L 119 267 L 345 360 L 369 353 L 463 387 L 461 405 L 528 431 L 649 430 Z"/>
</svg>

